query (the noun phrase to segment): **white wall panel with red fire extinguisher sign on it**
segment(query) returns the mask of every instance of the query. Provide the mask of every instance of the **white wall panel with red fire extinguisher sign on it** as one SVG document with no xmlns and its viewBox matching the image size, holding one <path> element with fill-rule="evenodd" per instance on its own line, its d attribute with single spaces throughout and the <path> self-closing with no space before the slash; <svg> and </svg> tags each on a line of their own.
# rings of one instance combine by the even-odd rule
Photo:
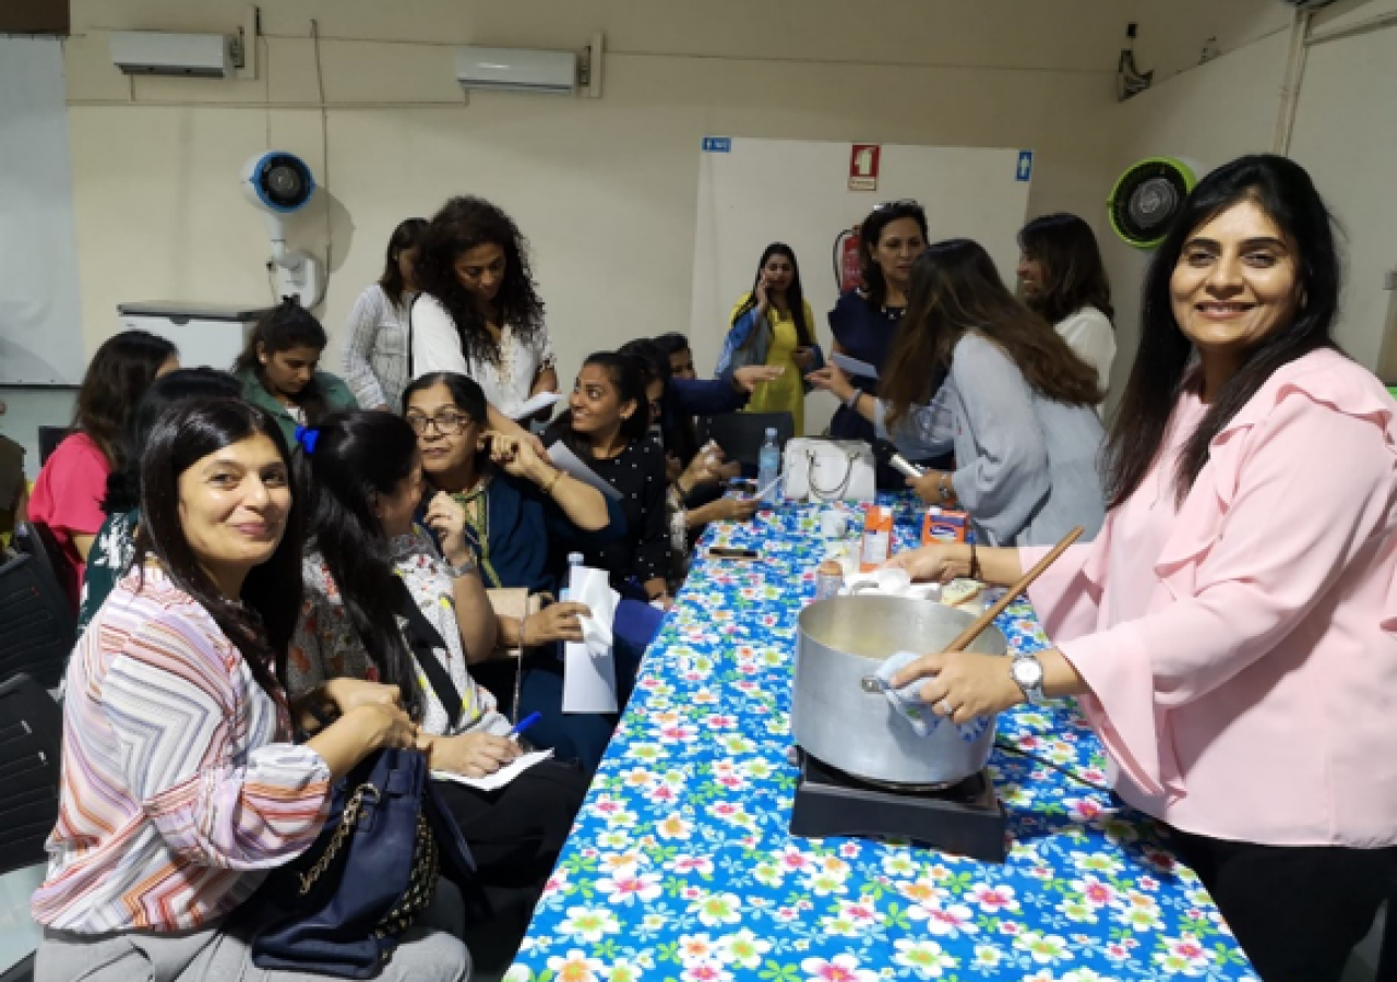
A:
<svg viewBox="0 0 1397 982">
<path fill-rule="evenodd" d="M 826 314 L 838 299 L 834 240 L 880 201 L 912 198 L 926 210 L 930 242 L 967 237 L 995 260 L 1013 288 L 1018 229 L 1028 212 L 1032 177 L 1027 151 L 972 147 L 884 144 L 875 191 L 851 191 L 847 142 L 757 140 L 708 141 L 725 152 L 697 148 L 698 221 L 694 240 L 693 306 L 689 339 L 700 374 L 711 372 L 728 332 L 733 305 L 752 289 L 761 250 L 784 242 L 800 264 L 805 299 L 814 312 L 826 353 Z M 806 432 L 819 433 L 834 400 L 806 400 Z"/>
</svg>

